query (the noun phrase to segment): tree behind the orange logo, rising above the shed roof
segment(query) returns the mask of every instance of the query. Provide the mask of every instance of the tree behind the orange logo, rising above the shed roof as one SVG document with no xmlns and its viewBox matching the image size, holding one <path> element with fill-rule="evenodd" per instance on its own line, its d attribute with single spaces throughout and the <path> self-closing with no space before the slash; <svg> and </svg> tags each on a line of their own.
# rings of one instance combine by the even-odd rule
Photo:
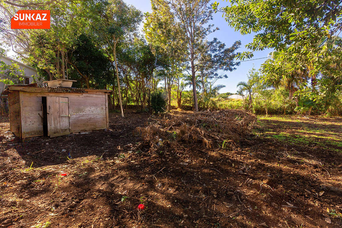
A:
<svg viewBox="0 0 342 228">
<path fill-rule="evenodd" d="M 15 4 L 11 4 L 15 3 Z M 72 2 L 5 1 L 1 4 L 0 40 L 21 59 L 43 69 L 50 80 L 67 78 L 67 52 L 80 34 L 89 34 L 94 16 L 94 0 Z M 51 29 L 11 29 L 11 18 L 18 11 L 50 10 Z"/>
</svg>

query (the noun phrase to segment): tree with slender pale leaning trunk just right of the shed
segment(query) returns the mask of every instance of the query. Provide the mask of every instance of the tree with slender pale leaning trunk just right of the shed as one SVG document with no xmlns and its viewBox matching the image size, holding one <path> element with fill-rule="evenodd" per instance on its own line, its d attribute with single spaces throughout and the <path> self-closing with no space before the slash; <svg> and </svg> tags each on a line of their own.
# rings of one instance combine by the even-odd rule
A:
<svg viewBox="0 0 342 228">
<path fill-rule="evenodd" d="M 141 11 L 137 10 L 134 6 L 128 6 L 122 0 L 109 0 L 105 3 L 104 18 L 101 21 L 101 27 L 98 32 L 106 41 L 107 50 L 111 61 L 115 62 L 115 72 L 118 85 L 118 96 L 121 109 L 121 116 L 123 115 L 120 81 L 118 63 L 116 57 L 116 47 L 123 36 L 130 36 L 136 31 L 137 26 L 142 20 Z"/>
</svg>

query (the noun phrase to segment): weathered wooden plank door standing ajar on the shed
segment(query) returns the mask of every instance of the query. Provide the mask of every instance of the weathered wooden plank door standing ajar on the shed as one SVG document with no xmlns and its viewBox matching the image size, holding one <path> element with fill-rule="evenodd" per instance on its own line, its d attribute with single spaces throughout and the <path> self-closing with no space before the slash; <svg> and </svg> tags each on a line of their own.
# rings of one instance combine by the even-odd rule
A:
<svg viewBox="0 0 342 228">
<path fill-rule="evenodd" d="M 47 97 L 48 135 L 69 134 L 69 102 L 67 97 Z"/>
</svg>

